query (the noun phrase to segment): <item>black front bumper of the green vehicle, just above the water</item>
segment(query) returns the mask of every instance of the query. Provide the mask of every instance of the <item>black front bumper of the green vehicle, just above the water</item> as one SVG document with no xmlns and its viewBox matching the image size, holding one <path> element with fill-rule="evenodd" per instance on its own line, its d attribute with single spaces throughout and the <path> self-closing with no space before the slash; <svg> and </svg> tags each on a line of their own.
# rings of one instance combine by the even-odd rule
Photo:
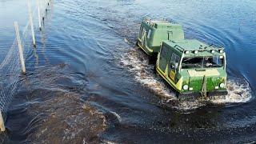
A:
<svg viewBox="0 0 256 144">
<path fill-rule="evenodd" d="M 227 90 L 213 90 L 213 91 L 207 91 L 207 97 L 214 97 L 214 96 L 224 96 L 228 94 Z M 200 92 L 186 92 L 186 93 L 178 93 L 177 94 L 178 99 L 190 99 L 190 98 L 200 98 L 201 93 Z"/>
</svg>

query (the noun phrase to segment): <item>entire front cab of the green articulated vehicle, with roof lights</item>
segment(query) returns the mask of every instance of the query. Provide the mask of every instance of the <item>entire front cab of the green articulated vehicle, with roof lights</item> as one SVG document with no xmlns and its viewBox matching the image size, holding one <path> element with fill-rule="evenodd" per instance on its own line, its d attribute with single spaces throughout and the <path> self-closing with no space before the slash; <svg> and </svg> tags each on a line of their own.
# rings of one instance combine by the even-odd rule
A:
<svg viewBox="0 0 256 144">
<path fill-rule="evenodd" d="M 226 95 L 226 55 L 222 47 L 198 40 L 163 41 L 156 69 L 178 98 Z"/>
</svg>

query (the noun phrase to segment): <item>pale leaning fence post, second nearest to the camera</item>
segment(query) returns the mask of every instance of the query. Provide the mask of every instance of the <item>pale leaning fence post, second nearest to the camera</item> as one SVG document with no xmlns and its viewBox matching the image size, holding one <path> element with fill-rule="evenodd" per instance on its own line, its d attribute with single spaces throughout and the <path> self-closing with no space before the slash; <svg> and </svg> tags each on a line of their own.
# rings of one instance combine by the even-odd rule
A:
<svg viewBox="0 0 256 144">
<path fill-rule="evenodd" d="M 22 64 L 22 73 L 26 74 L 26 67 L 25 67 L 25 62 L 24 62 L 24 57 L 23 57 L 22 42 L 21 42 L 21 38 L 19 36 L 18 23 L 14 22 L 14 26 L 15 26 L 16 38 L 17 38 L 17 42 L 18 42 L 19 58 L 20 58 L 21 64 Z"/>
</svg>

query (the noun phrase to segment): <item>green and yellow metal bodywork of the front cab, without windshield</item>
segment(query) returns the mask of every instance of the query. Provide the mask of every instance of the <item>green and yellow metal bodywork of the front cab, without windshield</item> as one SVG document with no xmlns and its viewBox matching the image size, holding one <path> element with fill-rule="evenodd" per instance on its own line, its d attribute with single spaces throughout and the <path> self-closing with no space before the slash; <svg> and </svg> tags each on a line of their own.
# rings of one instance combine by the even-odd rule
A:
<svg viewBox="0 0 256 144">
<path fill-rule="evenodd" d="M 214 50 L 214 52 L 212 52 Z M 188 52 L 187 52 L 188 51 Z M 194 51 L 197 51 L 195 53 Z M 178 59 L 177 68 L 172 66 L 171 58 L 175 55 Z M 182 68 L 183 58 L 194 57 L 222 57 L 224 64 L 219 67 Z M 161 50 L 158 53 L 156 69 L 162 76 L 178 91 L 178 94 L 200 94 L 203 86 L 203 79 L 206 78 L 206 92 L 225 92 L 226 94 L 226 55 L 222 47 L 208 46 L 198 40 L 163 41 Z M 220 84 L 225 86 L 221 87 Z M 184 90 L 183 86 L 188 89 Z"/>
</svg>

